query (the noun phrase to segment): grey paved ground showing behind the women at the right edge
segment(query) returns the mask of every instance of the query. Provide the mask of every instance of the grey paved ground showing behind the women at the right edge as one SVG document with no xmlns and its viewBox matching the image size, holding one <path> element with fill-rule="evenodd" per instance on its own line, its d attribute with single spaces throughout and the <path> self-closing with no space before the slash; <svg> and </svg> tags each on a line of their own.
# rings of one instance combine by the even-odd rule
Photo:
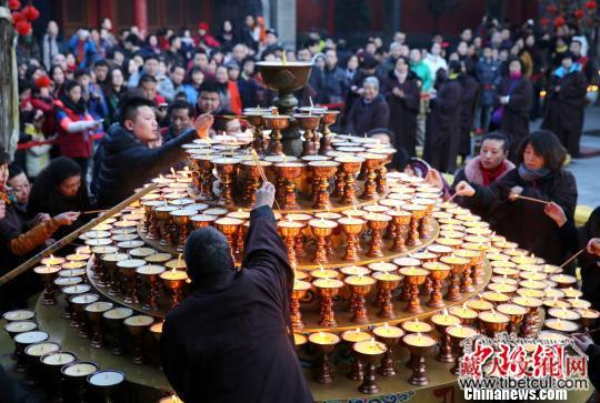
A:
<svg viewBox="0 0 600 403">
<path fill-rule="evenodd" d="M 531 123 L 537 129 L 541 120 Z M 600 150 L 600 107 L 586 110 L 581 147 Z M 568 169 L 573 172 L 579 190 L 578 204 L 600 205 L 600 155 L 571 160 Z"/>
</svg>

